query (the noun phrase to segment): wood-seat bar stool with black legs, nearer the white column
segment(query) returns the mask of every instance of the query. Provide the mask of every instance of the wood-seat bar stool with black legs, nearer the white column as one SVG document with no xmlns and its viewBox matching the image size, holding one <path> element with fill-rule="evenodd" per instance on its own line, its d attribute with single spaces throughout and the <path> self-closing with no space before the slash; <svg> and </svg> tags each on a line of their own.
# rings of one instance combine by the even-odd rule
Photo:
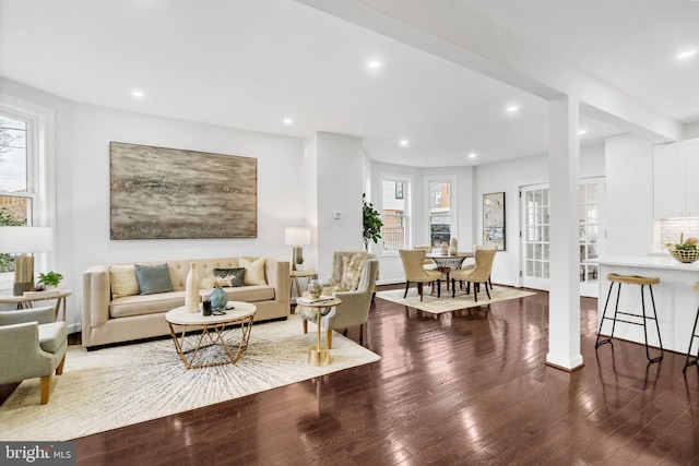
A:
<svg viewBox="0 0 699 466">
<path fill-rule="evenodd" d="M 641 276 L 637 276 L 637 275 L 617 275 L 617 274 L 609 274 L 607 275 L 607 279 L 609 282 L 612 282 L 612 285 L 609 286 L 609 292 L 607 294 L 607 300 L 604 303 L 604 311 L 602 312 L 602 320 L 600 322 L 600 331 L 597 332 L 597 340 L 594 345 L 595 349 L 597 347 L 600 347 L 601 345 L 604 345 L 605 343 L 612 343 L 612 338 L 614 338 L 614 327 L 616 326 L 617 322 L 624 322 L 627 324 L 632 324 L 632 325 L 642 325 L 643 326 L 643 337 L 645 338 L 645 357 L 648 358 L 648 360 L 650 361 L 650 363 L 653 362 L 657 362 L 661 359 L 663 359 L 663 355 L 664 355 L 664 350 L 663 350 L 663 340 L 661 339 L 660 336 L 660 325 L 657 324 L 657 313 L 655 312 L 655 300 L 653 299 L 653 286 L 652 285 L 657 285 L 660 283 L 660 278 L 656 277 L 641 277 Z M 607 318 L 606 313 L 607 313 L 607 304 L 609 303 L 609 297 L 612 296 L 612 290 L 614 289 L 614 284 L 617 284 L 617 291 L 616 291 L 616 307 L 614 308 L 614 316 L 613 318 Z M 642 315 L 639 315 L 637 313 L 631 313 L 631 312 L 625 312 L 625 311 L 619 311 L 619 295 L 621 294 L 621 284 L 627 284 L 627 285 L 640 285 L 641 286 L 641 312 Z M 648 286 L 648 290 L 650 291 L 651 295 L 651 302 L 653 303 L 653 316 L 650 315 L 645 315 L 645 300 L 643 298 L 643 287 Z M 628 315 L 628 316 L 632 316 L 632 318 L 637 318 L 637 319 L 641 319 L 641 322 L 633 322 L 633 321 L 628 321 L 628 320 L 624 320 L 624 319 L 619 319 L 619 314 L 621 315 Z M 600 337 L 602 336 L 602 325 L 604 325 L 604 320 L 611 320 L 612 321 L 612 334 L 609 335 L 608 338 L 605 339 L 600 339 Z M 645 321 L 647 320 L 653 320 L 655 321 L 655 330 L 657 331 L 657 342 L 660 343 L 660 356 L 656 358 L 651 358 L 650 353 L 649 353 L 649 346 L 648 346 L 648 331 L 647 331 L 647 325 L 645 325 Z"/>
</svg>

